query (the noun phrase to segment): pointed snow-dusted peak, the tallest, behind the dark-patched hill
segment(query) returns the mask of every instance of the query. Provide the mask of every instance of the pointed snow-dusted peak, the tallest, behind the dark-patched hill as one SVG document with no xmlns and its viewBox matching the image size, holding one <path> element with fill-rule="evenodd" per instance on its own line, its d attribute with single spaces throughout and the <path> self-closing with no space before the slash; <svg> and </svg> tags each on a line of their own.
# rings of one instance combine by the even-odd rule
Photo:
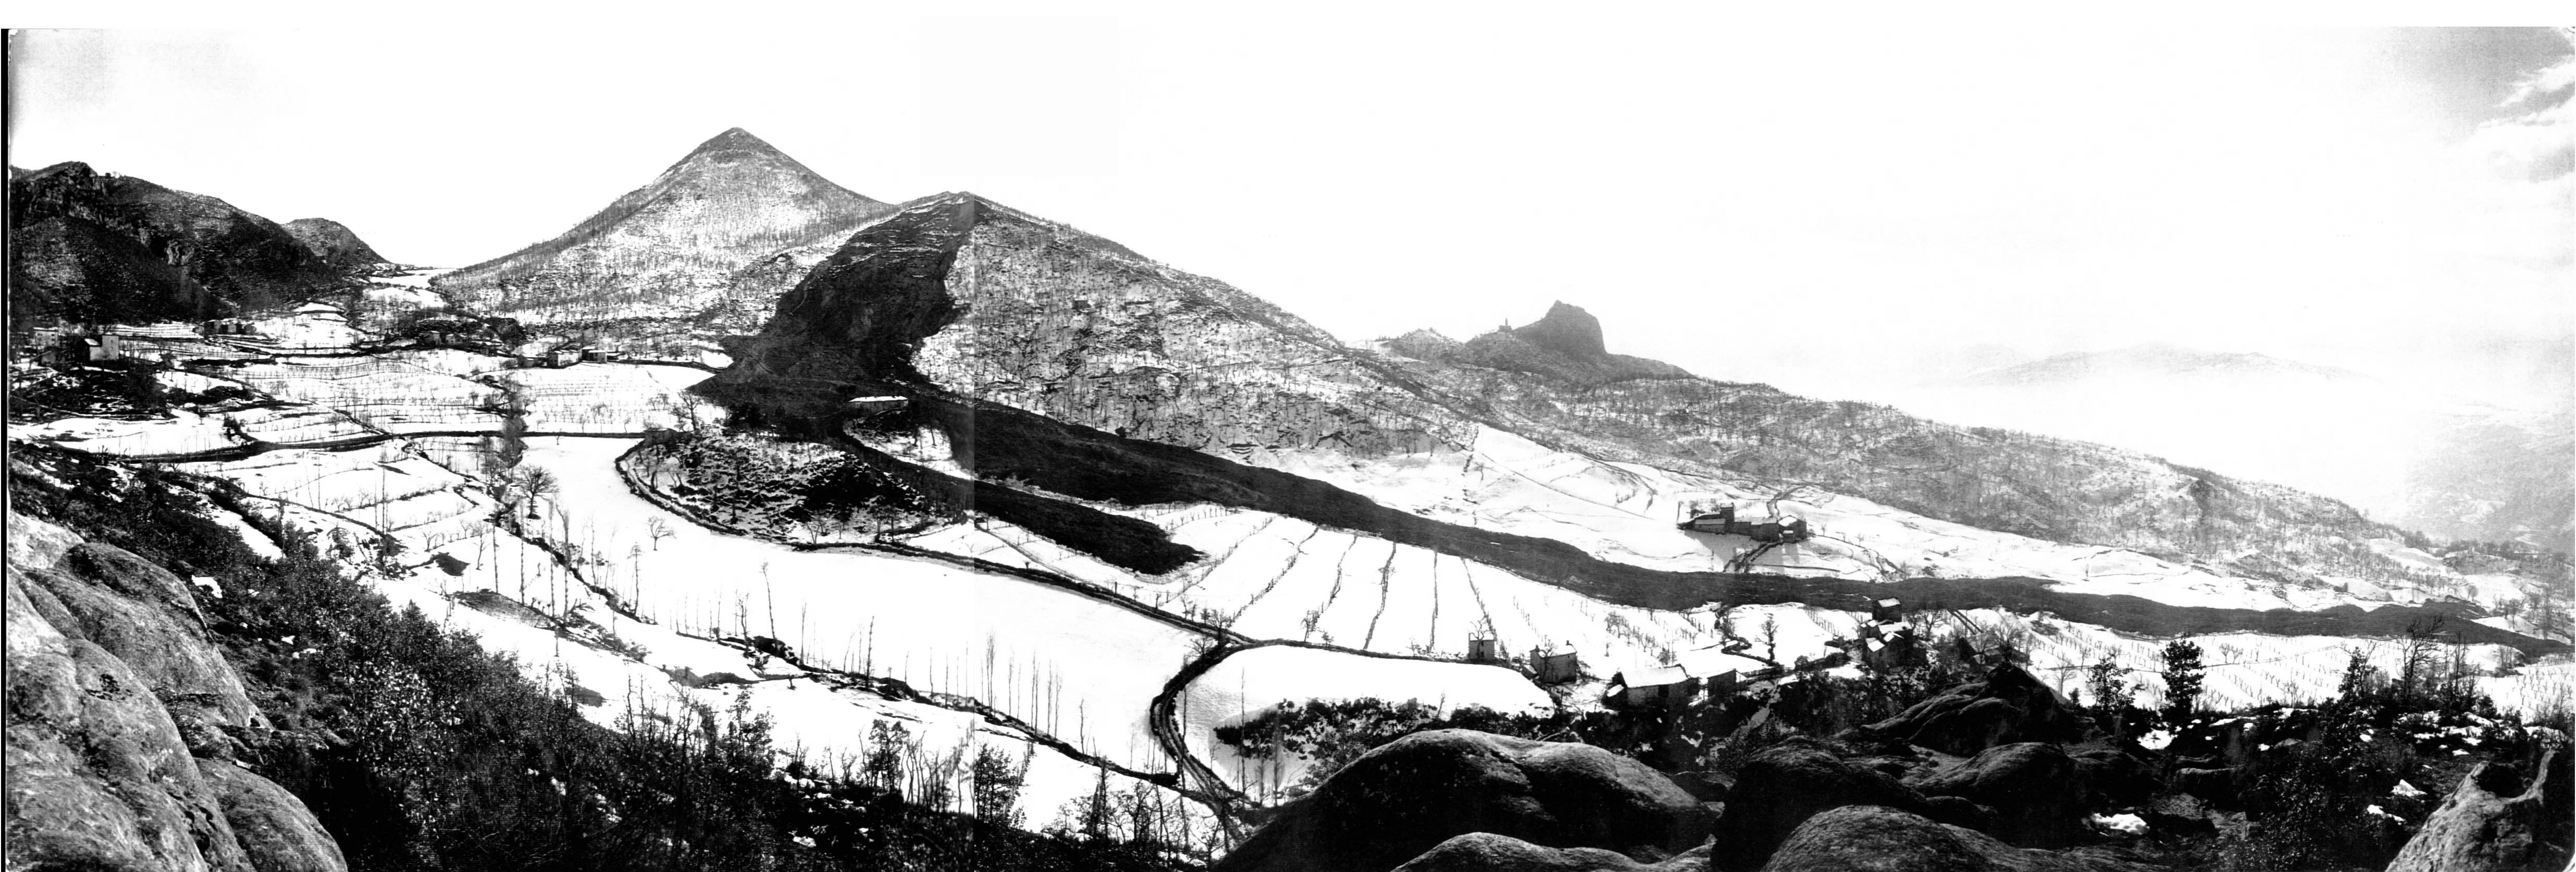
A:
<svg viewBox="0 0 2576 872">
<path fill-rule="evenodd" d="M 714 335 L 757 330 L 781 292 L 886 209 L 737 126 L 572 230 L 433 289 L 531 328 L 696 359 Z"/>
</svg>

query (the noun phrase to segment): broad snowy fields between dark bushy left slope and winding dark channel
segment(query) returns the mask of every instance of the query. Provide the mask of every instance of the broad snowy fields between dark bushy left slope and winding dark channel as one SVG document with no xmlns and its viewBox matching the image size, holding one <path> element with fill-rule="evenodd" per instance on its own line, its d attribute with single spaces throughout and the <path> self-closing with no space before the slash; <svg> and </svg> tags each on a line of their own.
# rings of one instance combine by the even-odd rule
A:
<svg viewBox="0 0 2576 872">
<path fill-rule="evenodd" d="M 580 475 L 564 475 L 569 488 L 592 488 L 585 493 L 613 488 L 613 493 L 623 495 L 623 485 L 613 482 L 608 462 L 631 441 L 544 439 L 541 444 L 531 449 L 531 462 L 551 462 L 549 470 L 559 470 L 559 475 L 577 472 L 582 462 L 595 462 L 595 470 L 608 477 L 582 480 Z M 1069 593 L 1056 593 L 1051 601 L 1048 596 L 1036 596 L 1036 591 L 1046 588 L 930 562 L 876 555 L 799 555 L 765 542 L 698 531 L 670 516 L 665 519 L 672 524 L 675 537 L 662 539 L 659 550 L 644 544 L 644 560 L 585 560 L 580 568 L 582 578 L 574 578 L 546 550 L 495 529 L 487 521 L 495 503 L 474 490 L 474 482 L 428 462 L 417 451 L 407 451 L 407 444 L 399 441 L 350 451 L 268 451 L 237 462 L 183 467 L 232 480 L 250 493 L 283 498 L 286 503 L 260 508 L 263 500 L 255 500 L 252 506 L 263 513 L 268 508 L 281 511 L 289 526 L 317 534 L 325 547 L 335 539 L 330 531 L 343 529 L 345 539 L 355 542 L 363 557 L 374 544 L 376 529 L 392 531 L 404 544 L 399 560 L 412 565 L 412 570 L 384 580 L 379 586 L 381 593 L 397 606 L 417 606 L 433 619 L 474 632 L 487 650 L 515 655 L 531 676 L 551 676 L 549 681 L 562 681 L 567 689 L 600 694 L 598 704 L 582 707 L 600 725 L 613 728 L 626 717 L 652 717 L 657 712 L 670 717 L 677 712 L 680 699 L 696 699 L 724 712 L 732 707 L 734 694 L 747 694 L 755 715 L 773 717 L 783 751 L 804 756 L 827 771 L 873 748 L 871 725 L 902 725 L 907 743 L 920 751 L 914 758 L 930 761 L 930 769 L 909 777 L 948 779 L 958 787 L 958 795 L 966 795 L 963 769 L 940 769 L 938 761 L 971 761 L 976 746 L 994 746 L 1010 758 L 1028 756 L 1030 761 L 1020 805 L 1033 826 L 1054 820 L 1059 808 L 1074 797 L 1087 797 L 1097 779 L 1095 766 L 1038 746 L 1028 735 L 987 722 L 979 715 L 891 702 L 863 691 L 835 691 L 786 663 L 752 663 L 742 650 L 706 640 L 708 627 L 693 627 L 685 619 L 626 619 L 618 609 L 611 609 L 605 596 L 582 586 L 582 578 L 590 586 L 621 588 L 623 593 L 618 596 L 634 593 L 634 586 L 667 593 L 644 596 L 644 609 L 696 609 L 693 614 L 703 611 L 706 622 L 724 624 L 724 632 L 739 632 L 742 622 L 752 622 L 760 624 L 755 632 L 770 635 L 765 627 L 768 614 L 793 606 L 799 619 L 806 622 L 809 635 L 799 637 L 786 629 L 778 635 L 809 658 L 868 658 L 860 645 L 884 645 L 876 650 L 884 658 L 884 673 L 909 679 L 917 689 L 1002 697 L 987 699 L 997 709 L 1028 722 L 1061 722 L 1066 740 L 1095 748 L 1100 756 L 1136 764 L 1144 771 L 1170 769 L 1167 761 L 1159 761 L 1151 740 L 1146 740 L 1144 712 L 1162 679 L 1185 658 L 1188 645 L 1180 632 L 1157 635 L 1154 629 L 1162 624 L 1144 622 L 1146 627 L 1133 627 L 1115 619 L 1133 617 L 1131 611 L 1108 609 L 1115 614 L 1092 614 L 1092 619 L 1064 624 L 1077 635 L 1082 635 L 1079 629 L 1092 629 L 1074 640 L 1061 635 L 1048 640 L 1036 629 L 1010 627 L 1015 632 L 1012 640 L 1038 637 L 1041 642 L 1054 642 L 1054 650 L 1074 655 L 1030 653 L 1025 660 L 999 663 L 1002 658 L 1018 658 L 1023 648 L 1018 642 L 999 645 L 1002 635 L 989 627 L 984 632 L 956 627 L 956 617 L 1002 614 L 1002 622 L 1041 624 L 1090 601 Z M 598 506 L 598 500 L 546 500 L 538 508 L 538 519 L 528 524 L 551 529 L 554 534 L 590 534 L 598 521 L 611 519 L 616 511 L 629 511 L 629 519 L 636 521 L 631 526 L 636 542 L 649 539 L 649 526 L 641 521 L 644 511 L 652 511 L 649 503 L 600 506 L 605 508 L 600 513 L 574 513 L 567 506 Z M 219 511 L 216 521 L 242 529 L 255 544 L 265 544 L 265 537 L 250 531 L 240 516 Z M 605 544 L 600 544 L 603 539 L 626 542 L 618 537 L 585 537 L 582 542 L 595 544 L 590 555 L 608 555 Z M 708 547 L 711 539 L 739 547 Z M 430 562 L 430 555 L 438 552 L 461 560 L 464 568 L 451 573 Z M 652 555 L 672 560 L 654 560 Z M 683 560 L 680 555 L 696 555 L 698 560 Z M 788 560 L 775 565 L 744 562 L 755 555 L 786 555 Z M 943 573 L 969 580 L 943 578 Z M 459 596 L 471 591 L 495 591 L 507 601 Z M 827 591 L 829 596 L 819 596 L 824 601 L 817 604 L 817 596 L 809 596 L 814 591 Z M 775 596 L 775 606 L 768 601 L 770 596 Z M 1020 596 L 1023 609 L 987 609 L 984 604 L 984 599 L 1002 604 L 1015 596 Z M 757 617 L 750 609 L 757 609 Z M 817 614 L 829 614 L 829 619 Z M 590 622 L 631 653 L 567 640 L 554 629 L 556 619 Z M 853 627 L 886 627 L 886 632 L 860 629 L 853 637 Z M 1110 642 L 1103 642 L 1103 635 L 1136 640 L 1139 645 L 1133 648 L 1146 660 L 1105 663 L 1097 658 L 1097 650 L 1110 648 Z M 842 650 L 827 653 L 827 645 L 809 642 L 814 637 L 832 637 Z M 1162 650 L 1154 648 L 1157 642 L 1162 642 Z M 974 666 L 981 655 L 994 658 L 997 668 L 989 673 L 976 671 Z M 1064 668 L 1066 663 L 1077 668 Z M 858 663 L 850 666 L 855 668 Z M 755 684 L 693 689 L 675 681 L 683 673 L 732 673 Z M 1126 673 L 1133 681 L 1103 684 L 1103 673 Z M 1018 689 L 1005 686 L 1015 679 L 1043 684 L 1033 684 L 1023 697 Z M 1139 784 L 1110 774 L 1110 789 L 1133 789 Z"/>
</svg>

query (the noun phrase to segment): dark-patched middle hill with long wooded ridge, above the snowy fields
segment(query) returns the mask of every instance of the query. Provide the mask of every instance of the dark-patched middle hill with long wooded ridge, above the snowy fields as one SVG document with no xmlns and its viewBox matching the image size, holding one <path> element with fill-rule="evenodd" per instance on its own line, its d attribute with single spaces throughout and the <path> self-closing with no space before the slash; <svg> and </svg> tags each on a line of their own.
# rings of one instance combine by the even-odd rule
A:
<svg viewBox="0 0 2576 872">
<path fill-rule="evenodd" d="M 2398 531 L 2336 500 L 2136 451 L 1690 377 L 1610 353 L 1600 322 L 1571 304 L 1466 343 L 1414 333 L 1386 348 L 1347 348 L 1221 281 L 943 193 L 855 235 L 781 299 L 762 335 L 734 346 L 742 366 L 706 390 L 737 413 L 832 436 L 835 402 L 912 382 L 1273 470 L 1311 451 L 1360 462 L 1468 451 L 1492 426 L 1770 495 L 1803 485 L 2048 542 L 2233 562 L 2257 578 L 2409 573 L 2362 547 Z M 1002 415 L 958 415 L 989 431 L 974 439 L 1005 439 Z"/>
</svg>

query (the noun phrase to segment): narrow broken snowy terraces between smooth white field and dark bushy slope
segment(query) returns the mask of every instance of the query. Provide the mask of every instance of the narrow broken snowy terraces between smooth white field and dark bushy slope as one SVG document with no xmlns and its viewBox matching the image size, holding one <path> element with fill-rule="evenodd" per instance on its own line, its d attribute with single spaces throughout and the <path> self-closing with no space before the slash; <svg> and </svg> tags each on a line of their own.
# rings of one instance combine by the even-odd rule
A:
<svg viewBox="0 0 2576 872">
<path fill-rule="evenodd" d="M 629 441 L 613 441 L 611 451 L 595 451 L 595 457 L 616 457 L 616 451 L 626 444 Z M 554 555 L 520 537 L 492 529 L 484 516 L 489 516 L 495 506 L 489 498 L 466 488 L 469 482 L 464 477 L 430 464 L 425 457 L 404 451 L 402 444 L 381 444 L 353 451 L 268 451 L 224 464 L 185 464 L 185 470 L 232 480 L 252 493 L 296 498 L 291 506 L 278 506 L 286 511 L 283 521 L 289 526 L 317 534 L 317 542 L 332 542 L 330 531 L 345 529 L 350 531 L 350 539 L 358 542 L 361 560 L 368 547 L 368 534 L 361 524 L 415 521 L 417 526 L 394 526 L 394 534 L 407 544 L 402 560 L 410 562 L 412 570 L 399 578 L 381 580 L 379 591 L 386 593 L 397 609 L 417 606 L 422 614 L 443 624 L 471 632 L 484 650 L 518 658 L 518 663 L 523 663 L 523 668 L 528 668 L 528 673 L 538 681 L 556 681 L 564 689 L 577 689 L 574 697 L 585 699 L 580 707 L 582 715 L 608 728 L 618 728 L 621 720 L 634 715 L 670 715 L 677 709 L 677 699 L 683 697 L 724 712 L 732 707 L 734 694 L 750 694 L 752 712 L 770 715 L 775 720 L 778 748 L 804 756 L 817 766 L 832 766 L 835 761 L 855 761 L 866 756 L 871 748 L 871 722 L 878 720 L 904 725 L 912 743 L 930 756 L 969 748 L 969 740 L 994 746 L 1012 758 L 1020 758 L 1033 748 L 1028 738 L 992 725 L 979 715 L 930 704 L 889 702 L 863 691 L 832 691 L 811 679 L 778 679 L 788 673 L 781 663 L 770 663 L 768 671 L 762 671 L 760 666 L 747 663 L 742 650 L 683 635 L 672 624 L 626 619 L 611 609 L 608 599 L 585 588 L 562 562 L 554 560 Z M 618 488 L 618 493 L 623 493 L 623 488 Z M 451 500 L 433 506 L 433 511 L 402 508 L 407 503 L 420 503 L 425 495 L 446 495 Z M 332 506 L 340 513 L 307 508 L 304 500 Z M 255 500 L 252 506 L 263 503 Z M 549 503 L 546 511 L 528 524 L 546 526 L 551 521 L 562 524 L 556 529 L 572 529 L 572 516 L 554 508 L 556 506 Z M 227 511 L 216 511 L 216 516 L 219 524 L 242 529 L 245 542 L 252 542 L 255 550 L 265 547 L 263 552 L 273 552 L 268 537 L 250 529 L 240 516 Z M 358 521 L 353 524 L 350 519 Z M 677 550 L 672 542 L 665 542 L 665 547 Z M 433 552 L 459 557 L 464 568 L 448 573 L 443 565 L 430 562 L 428 555 Z M 657 580 L 654 573 L 639 573 L 639 565 L 618 562 L 585 565 L 582 578 L 592 586 L 613 588 L 623 599 L 634 599 L 639 583 Z M 471 591 L 502 593 L 507 601 L 487 601 L 487 606 L 477 606 L 477 599 L 459 599 L 459 593 Z M 549 614 L 595 622 L 618 642 L 639 650 L 641 658 L 567 640 L 554 632 Z M 878 640 L 884 640 L 884 635 L 878 635 Z M 799 640 L 791 640 L 791 645 L 796 642 Z M 891 650 L 884 655 L 902 663 L 902 658 Z M 734 673 L 744 679 L 768 679 L 755 686 L 683 689 L 672 684 L 672 673 L 680 671 L 696 676 Z M 1162 673 L 1144 673 L 1144 679 L 1159 686 Z M 1072 684 L 1064 679 L 1056 681 Z M 920 679 L 917 686 L 940 689 Z M 587 702 L 580 691 L 598 694 L 598 699 Z M 1059 691 L 1048 689 L 1048 694 Z M 1084 691 L 1077 686 L 1072 691 L 1061 691 L 1061 697 L 1084 697 Z M 1097 702 L 1084 697 L 1069 704 L 1079 707 L 1087 717 Z M 1033 702 L 1030 707 L 1043 704 Z M 1069 738 L 1077 735 L 1077 730 L 1066 733 Z M 1144 733 L 1136 730 L 1136 735 Z M 1126 735 L 1097 740 L 1103 751 L 1110 751 L 1108 746 L 1126 748 L 1133 743 L 1136 740 Z M 1151 758 L 1151 751 L 1144 751 L 1146 753 L 1136 756 Z M 1105 756 L 1118 758 L 1118 753 Z M 971 751 L 966 751 L 966 758 L 971 761 Z M 1028 787 L 1020 800 L 1028 820 L 1033 820 L 1033 826 L 1054 820 L 1064 802 L 1090 795 L 1095 777 L 1097 774 L 1090 764 L 1038 746 L 1030 756 Z M 963 782 L 956 784 L 963 787 Z M 1136 784 L 1139 782 L 1126 777 L 1110 777 L 1110 789 L 1131 789 Z"/>
</svg>

